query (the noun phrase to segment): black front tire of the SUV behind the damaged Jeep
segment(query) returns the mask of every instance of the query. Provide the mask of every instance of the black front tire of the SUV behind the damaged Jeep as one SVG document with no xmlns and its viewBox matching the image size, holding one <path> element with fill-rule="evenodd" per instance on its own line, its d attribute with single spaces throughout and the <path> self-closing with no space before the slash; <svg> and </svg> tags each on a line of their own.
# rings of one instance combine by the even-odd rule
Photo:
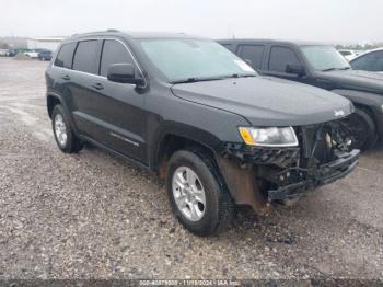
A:
<svg viewBox="0 0 383 287">
<path fill-rule="evenodd" d="M 355 113 L 346 119 L 352 144 L 350 149 L 369 150 L 378 140 L 376 126 L 365 111 L 356 108 Z"/>
</svg>

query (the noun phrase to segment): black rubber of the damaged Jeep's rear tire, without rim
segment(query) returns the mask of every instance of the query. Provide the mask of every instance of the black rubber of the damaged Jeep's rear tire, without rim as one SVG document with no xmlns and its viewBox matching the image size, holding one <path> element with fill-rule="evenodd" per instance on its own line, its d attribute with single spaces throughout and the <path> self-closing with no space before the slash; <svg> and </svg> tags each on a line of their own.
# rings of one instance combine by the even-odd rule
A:
<svg viewBox="0 0 383 287">
<path fill-rule="evenodd" d="M 60 142 L 58 140 L 58 136 L 56 135 L 55 119 L 58 115 L 60 115 L 62 117 L 63 124 L 66 126 L 67 140 L 65 144 Z M 73 129 L 72 129 L 70 122 L 68 119 L 68 115 L 65 112 L 65 110 L 62 108 L 62 106 L 59 104 L 55 105 L 54 111 L 51 113 L 51 127 L 53 127 L 53 131 L 55 135 L 56 144 L 62 152 L 74 153 L 74 152 L 78 152 L 82 149 L 83 145 L 82 145 L 81 140 L 74 135 Z"/>
</svg>

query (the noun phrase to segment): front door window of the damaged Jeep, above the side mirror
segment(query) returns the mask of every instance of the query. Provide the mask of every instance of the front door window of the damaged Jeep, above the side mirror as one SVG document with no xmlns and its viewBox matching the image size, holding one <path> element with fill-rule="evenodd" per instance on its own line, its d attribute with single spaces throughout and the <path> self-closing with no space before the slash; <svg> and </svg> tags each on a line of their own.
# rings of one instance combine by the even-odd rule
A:
<svg viewBox="0 0 383 287">
<path fill-rule="evenodd" d="M 134 59 L 121 43 L 114 39 L 106 39 L 101 56 L 100 74 L 106 77 L 107 70 L 113 64 L 134 64 Z"/>
</svg>

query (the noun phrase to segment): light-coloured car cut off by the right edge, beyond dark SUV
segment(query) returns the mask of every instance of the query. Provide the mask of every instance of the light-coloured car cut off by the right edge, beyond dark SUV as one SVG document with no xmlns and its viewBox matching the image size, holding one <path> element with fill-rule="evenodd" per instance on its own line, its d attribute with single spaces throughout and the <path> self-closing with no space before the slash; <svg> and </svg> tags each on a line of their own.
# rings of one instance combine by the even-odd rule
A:
<svg viewBox="0 0 383 287">
<path fill-rule="evenodd" d="M 370 50 L 350 62 L 352 69 L 383 73 L 383 48 Z"/>
</svg>

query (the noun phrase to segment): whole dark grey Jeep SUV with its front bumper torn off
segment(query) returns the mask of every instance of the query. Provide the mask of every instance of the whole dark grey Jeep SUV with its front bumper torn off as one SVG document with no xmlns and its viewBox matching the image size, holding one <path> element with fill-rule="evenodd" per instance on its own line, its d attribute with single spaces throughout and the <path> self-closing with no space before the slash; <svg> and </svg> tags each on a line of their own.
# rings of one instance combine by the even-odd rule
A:
<svg viewBox="0 0 383 287">
<path fill-rule="evenodd" d="M 46 84 L 61 151 L 91 142 L 156 173 L 178 220 L 199 236 L 229 227 L 235 205 L 263 213 L 358 163 L 341 133 L 350 101 L 260 77 L 210 39 L 74 35 Z"/>
</svg>

